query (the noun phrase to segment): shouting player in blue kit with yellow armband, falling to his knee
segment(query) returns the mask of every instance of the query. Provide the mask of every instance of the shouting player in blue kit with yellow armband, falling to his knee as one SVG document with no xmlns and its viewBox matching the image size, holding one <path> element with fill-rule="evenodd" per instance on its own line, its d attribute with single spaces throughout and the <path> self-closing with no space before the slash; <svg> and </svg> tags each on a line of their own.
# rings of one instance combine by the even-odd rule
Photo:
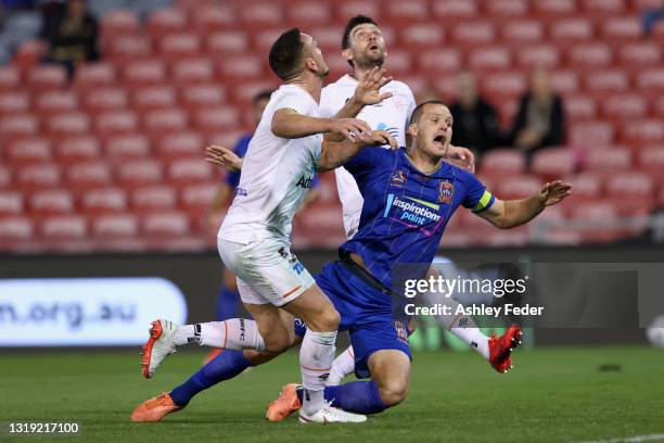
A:
<svg viewBox="0 0 664 443">
<path fill-rule="evenodd" d="M 529 221 L 546 206 L 559 203 L 571 193 L 569 183 L 553 181 L 527 199 L 501 201 L 473 175 L 443 161 L 449 149 L 452 127 L 447 106 L 438 101 L 420 104 L 410 123 L 411 145 L 408 149 L 397 152 L 365 150 L 346 163 L 365 198 L 359 230 L 340 248 L 341 261 L 327 264 L 316 278 L 341 315 L 340 330 L 349 332 L 356 374 L 371 377 L 368 382 L 325 388 L 325 400 L 347 412 L 380 413 L 404 401 L 408 392 L 410 350 L 407 331 L 404 322 L 395 320 L 390 295 L 395 266 L 431 265 L 445 226 L 460 206 L 507 229 Z M 218 163 L 224 165 L 222 161 Z M 302 328 L 296 326 L 295 329 Z M 296 343 L 298 339 L 294 336 L 293 345 Z M 155 406 L 154 421 L 180 410 L 212 384 L 235 377 L 246 367 L 263 364 L 276 355 L 254 351 L 224 352 L 220 357 L 225 358 L 213 362 L 217 367 L 202 368 L 187 382 L 164 394 L 171 405 Z M 283 419 L 299 404 L 298 390 L 291 384 L 270 404 L 268 418 Z"/>
</svg>

